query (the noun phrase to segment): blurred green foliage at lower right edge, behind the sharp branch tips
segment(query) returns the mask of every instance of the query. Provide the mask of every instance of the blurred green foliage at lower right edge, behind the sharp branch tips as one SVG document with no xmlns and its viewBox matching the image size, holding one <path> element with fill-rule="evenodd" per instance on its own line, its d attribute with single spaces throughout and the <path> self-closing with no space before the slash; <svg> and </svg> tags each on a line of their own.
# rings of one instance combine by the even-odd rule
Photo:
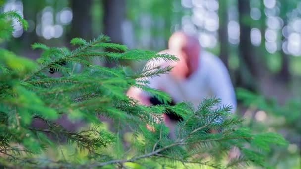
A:
<svg viewBox="0 0 301 169">
<path fill-rule="evenodd" d="M 288 147 L 272 146 L 266 160 L 276 167 L 300 168 L 301 159 L 301 99 L 289 99 L 283 104 L 246 89 L 237 89 L 237 98 L 247 106 L 245 126 L 255 132 L 275 131 L 281 133 L 290 143 Z M 248 112 L 248 113 L 247 113 Z M 258 115 L 264 113 L 264 121 Z M 255 118 L 254 118 L 255 117 Z M 257 117 L 257 118 L 256 118 Z"/>
</svg>

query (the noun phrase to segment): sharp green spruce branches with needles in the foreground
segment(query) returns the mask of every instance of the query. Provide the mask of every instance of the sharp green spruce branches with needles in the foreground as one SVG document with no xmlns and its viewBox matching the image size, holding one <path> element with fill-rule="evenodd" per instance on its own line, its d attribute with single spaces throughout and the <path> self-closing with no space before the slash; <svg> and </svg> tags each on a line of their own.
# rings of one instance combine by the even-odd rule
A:
<svg viewBox="0 0 301 169">
<path fill-rule="evenodd" d="M 8 28 L 12 18 L 26 27 L 26 21 L 17 13 L 7 12 L 1 14 L 1 28 Z M 8 39 L 11 31 L 11 27 L 1 29 L 0 38 Z M 0 49 L 0 165 L 9 168 L 209 166 L 222 169 L 253 164 L 267 167 L 263 154 L 269 151 L 270 144 L 286 144 L 277 134 L 252 134 L 248 128 L 240 127 L 242 120 L 230 113 L 229 106 L 215 108 L 220 103 L 218 99 L 205 99 L 195 110 L 190 103 L 144 106 L 125 94 L 129 87 L 136 86 L 163 102 L 170 101 L 166 93 L 147 87 L 147 78 L 168 73 L 171 67 L 150 66 L 132 72 L 123 66 L 106 68 L 92 62 L 95 58 L 105 62 L 176 61 L 174 56 L 128 50 L 123 45 L 109 43 L 104 35 L 89 42 L 75 38 L 71 44 L 77 49 L 70 51 L 35 43 L 32 48 L 43 51 L 37 61 Z M 121 53 L 103 52 L 100 50 L 103 48 Z M 50 69 L 59 76 L 53 77 Z M 176 127 L 175 139 L 169 138 L 168 128 L 162 123 L 162 114 L 167 110 L 183 117 Z M 79 131 L 67 130 L 55 121 L 64 114 L 70 120 L 85 122 L 86 126 Z M 99 116 L 112 119 L 116 132 L 104 127 Z M 44 126 L 32 125 L 36 120 Z M 147 124 L 154 130 L 147 129 Z M 124 128 L 128 133 L 123 133 Z M 212 130 L 219 132 L 212 133 Z M 224 161 L 234 146 L 241 154 Z"/>
</svg>

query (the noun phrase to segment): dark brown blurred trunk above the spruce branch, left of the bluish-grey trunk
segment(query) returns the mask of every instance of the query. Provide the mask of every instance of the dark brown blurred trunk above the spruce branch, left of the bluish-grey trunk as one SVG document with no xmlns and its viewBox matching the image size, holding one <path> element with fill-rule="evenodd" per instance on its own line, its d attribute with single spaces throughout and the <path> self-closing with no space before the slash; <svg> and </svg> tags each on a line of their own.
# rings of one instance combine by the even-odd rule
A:
<svg viewBox="0 0 301 169">
<path fill-rule="evenodd" d="M 92 38 L 92 23 L 91 23 L 91 4 L 92 0 L 71 0 L 71 8 L 73 19 L 71 23 L 71 31 L 68 39 L 75 37 L 90 40 Z"/>
</svg>

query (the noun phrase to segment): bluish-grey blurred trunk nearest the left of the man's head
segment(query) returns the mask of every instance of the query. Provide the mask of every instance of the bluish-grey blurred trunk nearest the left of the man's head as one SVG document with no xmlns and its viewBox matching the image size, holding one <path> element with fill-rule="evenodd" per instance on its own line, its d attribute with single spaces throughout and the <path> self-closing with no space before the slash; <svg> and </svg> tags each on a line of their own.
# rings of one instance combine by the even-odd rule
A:
<svg viewBox="0 0 301 169">
<path fill-rule="evenodd" d="M 125 0 L 102 0 L 103 2 L 103 32 L 113 43 L 122 43 L 122 23 L 126 14 Z"/>
</svg>

